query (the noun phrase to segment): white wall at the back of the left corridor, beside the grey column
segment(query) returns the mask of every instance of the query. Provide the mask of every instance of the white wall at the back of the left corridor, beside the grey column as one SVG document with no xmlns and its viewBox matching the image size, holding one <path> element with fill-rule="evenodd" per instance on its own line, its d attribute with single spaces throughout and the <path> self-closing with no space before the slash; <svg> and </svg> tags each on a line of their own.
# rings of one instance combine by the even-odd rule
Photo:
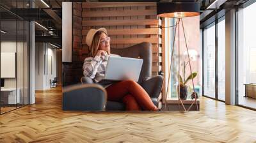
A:
<svg viewBox="0 0 256 143">
<path fill-rule="evenodd" d="M 49 89 L 51 88 L 50 79 L 53 80 L 56 77 L 56 49 L 48 43 L 36 43 L 35 54 L 35 89 Z"/>
</svg>

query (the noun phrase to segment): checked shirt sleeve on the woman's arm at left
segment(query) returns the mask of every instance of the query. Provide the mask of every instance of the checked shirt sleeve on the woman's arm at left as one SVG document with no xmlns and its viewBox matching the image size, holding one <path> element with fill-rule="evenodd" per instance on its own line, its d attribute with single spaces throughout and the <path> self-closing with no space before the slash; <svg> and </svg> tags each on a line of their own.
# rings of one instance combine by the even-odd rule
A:
<svg viewBox="0 0 256 143">
<path fill-rule="evenodd" d="M 102 63 L 102 59 L 99 56 L 95 56 L 94 58 L 88 57 L 84 59 L 84 64 L 83 64 L 84 76 L 94 79 L 97 73 L 97 70 L 100 66 L 100 63 Z"/>
</svg>

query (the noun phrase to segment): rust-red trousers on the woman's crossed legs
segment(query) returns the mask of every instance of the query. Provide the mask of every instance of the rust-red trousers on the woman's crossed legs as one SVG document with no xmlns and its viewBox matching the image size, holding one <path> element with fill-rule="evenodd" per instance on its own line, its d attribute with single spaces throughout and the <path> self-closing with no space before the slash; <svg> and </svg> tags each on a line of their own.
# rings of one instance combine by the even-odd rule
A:
<svg viewBox="0 0 256 143">
<path fill-rule="evenodd" d="M 158 110 L 148 93 L 133 80 L 124 80 L 106 88 L 108 100 L 125 103 L 126 110 Z"/>
</svg>

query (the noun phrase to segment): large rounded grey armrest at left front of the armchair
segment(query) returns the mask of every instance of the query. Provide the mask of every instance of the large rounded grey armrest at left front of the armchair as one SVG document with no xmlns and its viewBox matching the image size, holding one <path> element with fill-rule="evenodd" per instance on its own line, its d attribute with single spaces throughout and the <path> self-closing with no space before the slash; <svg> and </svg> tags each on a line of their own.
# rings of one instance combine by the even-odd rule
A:
<svg viewBox="0 0 256 143">
<path fill-rule="evenodd" d="M 105 110 L 106 90 L 97 84 L 77 84 L 63 89 L 63 110 Z"/>
</svg>

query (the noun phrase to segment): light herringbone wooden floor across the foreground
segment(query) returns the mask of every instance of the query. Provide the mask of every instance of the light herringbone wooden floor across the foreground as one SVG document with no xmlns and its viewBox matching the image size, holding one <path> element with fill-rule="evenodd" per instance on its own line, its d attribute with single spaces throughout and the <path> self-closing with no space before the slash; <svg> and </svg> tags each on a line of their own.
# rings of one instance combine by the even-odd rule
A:
<svg viewBox="0 0 256 143">
<path fill-rule="evenodd" d="M 61 88 L 0 116 L 0 142 L 256 142 L 256 112 L 200 99 L 200 112 L 63 112 Z"/>
</svg>

